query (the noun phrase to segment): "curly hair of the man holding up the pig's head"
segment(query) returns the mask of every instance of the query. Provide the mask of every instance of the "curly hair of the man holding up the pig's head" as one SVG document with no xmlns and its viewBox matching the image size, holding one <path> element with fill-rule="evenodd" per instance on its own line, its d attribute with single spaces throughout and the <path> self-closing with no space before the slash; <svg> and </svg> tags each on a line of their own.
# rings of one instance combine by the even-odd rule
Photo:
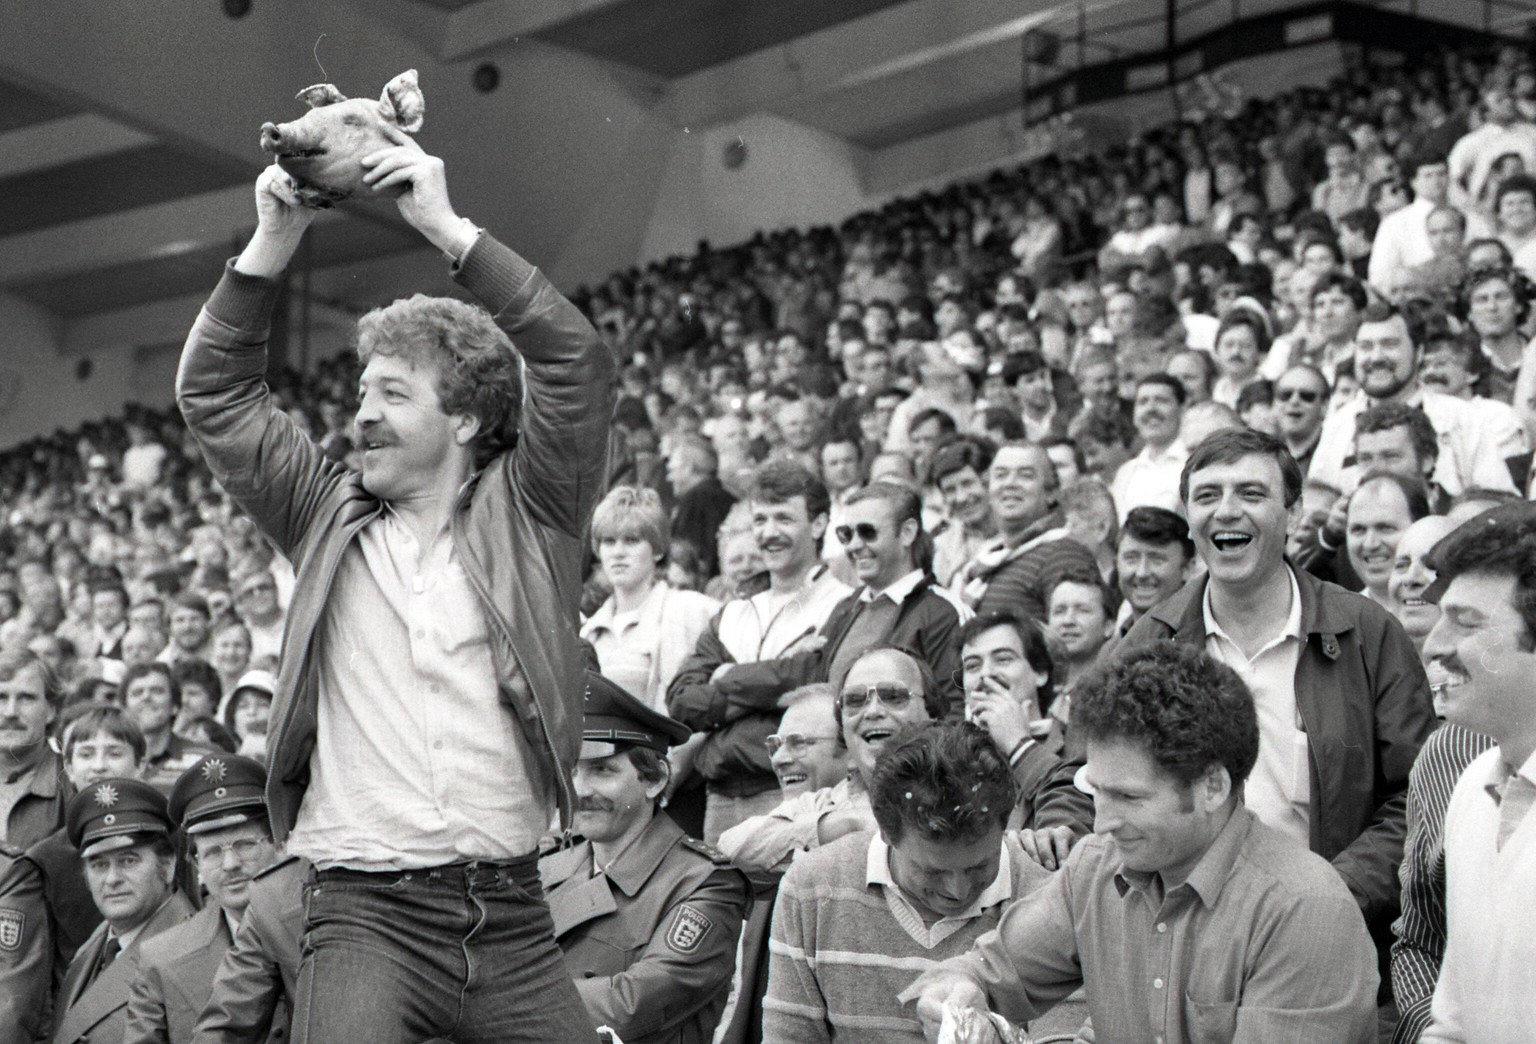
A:
<svg viewBox="0 0 1536 1044">
<path fill-rule="evenodd" d="M 522 422 L 522 356 L 485 309 L 418 293 L 358 319 L 358 362 L 401 356 L 438 373 L 449 415 L 479 419 L 475 464 L 484 467 L 518 444 Z"/>
</svg>

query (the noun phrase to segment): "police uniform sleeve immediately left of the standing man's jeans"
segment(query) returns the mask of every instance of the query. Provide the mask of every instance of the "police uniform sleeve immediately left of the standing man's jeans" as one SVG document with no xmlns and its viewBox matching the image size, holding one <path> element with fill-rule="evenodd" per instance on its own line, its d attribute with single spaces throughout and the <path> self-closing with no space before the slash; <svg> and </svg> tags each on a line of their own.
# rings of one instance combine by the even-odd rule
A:
<svg viewBox="0 0 1536 1044">
<path fill-rule="evenodd" d="M 290 855 L 252 878 L 235 944 L 223 953 L 197 1021 L 198 1044 L 287 1039 L 307 874 L 309 863 Z"/>
</svg>

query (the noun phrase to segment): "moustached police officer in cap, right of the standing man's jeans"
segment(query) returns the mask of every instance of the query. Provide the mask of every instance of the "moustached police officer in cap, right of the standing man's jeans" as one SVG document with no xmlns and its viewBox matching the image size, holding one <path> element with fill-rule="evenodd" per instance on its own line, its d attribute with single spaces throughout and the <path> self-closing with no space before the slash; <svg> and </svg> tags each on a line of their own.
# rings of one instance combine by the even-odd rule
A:
<svg viewBox="0 0 1536 1044">
<path fill-rule="evenodd" d="M 545 855 L 554 935 L 599 1027 L 625 1044 L 708 1041 L 725 1007 L 746 877 L 656 814 L 688 728 L 587 672 L 574 847 Z"/>
</svg>

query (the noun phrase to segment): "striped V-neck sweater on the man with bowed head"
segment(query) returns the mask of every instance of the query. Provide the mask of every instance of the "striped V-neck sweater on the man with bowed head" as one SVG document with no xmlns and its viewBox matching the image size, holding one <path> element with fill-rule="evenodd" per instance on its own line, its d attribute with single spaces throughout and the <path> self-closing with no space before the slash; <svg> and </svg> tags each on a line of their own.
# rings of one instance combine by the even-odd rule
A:
<svg viewBox="0 0 1536 1044">
<path fill-rule="evenodd" d="M 796 860 L 779 886 L 768 943 L 763 1039 L 774 1044 L 922 1044 L 895 995 L 997 927 L 1008 901 L 1051 874 L 1003 841 L 997 878 L 969 910 L 925 924 L 894 884 L 879 834 L 851 834 Z"/>
</svg>

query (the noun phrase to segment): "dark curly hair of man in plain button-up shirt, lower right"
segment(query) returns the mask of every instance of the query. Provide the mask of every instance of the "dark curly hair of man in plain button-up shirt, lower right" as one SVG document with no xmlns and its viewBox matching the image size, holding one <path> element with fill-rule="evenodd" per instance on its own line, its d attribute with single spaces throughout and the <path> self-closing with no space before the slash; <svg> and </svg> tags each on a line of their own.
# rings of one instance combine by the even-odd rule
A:
<svg viewBox="0 0 1536 1044">
<path fill-rule="evenodd" d="M 1243 679 L 1180 642 L 1130 649 L 1084 677 L 1072 694 L 1072 732 L 1144 746 L 1186 786 L 1220 765 L 1236 791 L 1258 760 L 1258 714 Z"/>
</svg>

